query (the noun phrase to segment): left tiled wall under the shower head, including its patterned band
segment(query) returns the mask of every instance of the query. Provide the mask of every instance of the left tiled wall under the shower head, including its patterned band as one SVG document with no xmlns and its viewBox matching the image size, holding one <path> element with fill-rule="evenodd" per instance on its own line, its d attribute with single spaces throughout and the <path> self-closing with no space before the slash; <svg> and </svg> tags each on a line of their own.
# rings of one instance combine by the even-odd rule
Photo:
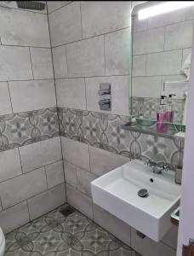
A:
<svg viewBox="0 0 194 256">
<path fill-rule="evenodd" d="M 0 3 L 0 226 L 66 201 L 48 15 Z"/>
</svg>

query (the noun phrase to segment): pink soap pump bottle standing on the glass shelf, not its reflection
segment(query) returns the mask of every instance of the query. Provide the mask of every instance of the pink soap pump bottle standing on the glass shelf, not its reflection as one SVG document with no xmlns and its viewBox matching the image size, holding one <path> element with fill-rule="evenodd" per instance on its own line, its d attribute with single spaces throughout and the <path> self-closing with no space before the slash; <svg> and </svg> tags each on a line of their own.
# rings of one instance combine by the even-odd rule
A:
<svg viewBox="0 0 194 256">
<path fill-rule="evenodd" d="M 167 105 L 165 104 L 165 97 L 166 96 L 161 96 L 160 104 L 157 108 L 157 132 L 165 132 L 168 129 Z"/>
</svg>

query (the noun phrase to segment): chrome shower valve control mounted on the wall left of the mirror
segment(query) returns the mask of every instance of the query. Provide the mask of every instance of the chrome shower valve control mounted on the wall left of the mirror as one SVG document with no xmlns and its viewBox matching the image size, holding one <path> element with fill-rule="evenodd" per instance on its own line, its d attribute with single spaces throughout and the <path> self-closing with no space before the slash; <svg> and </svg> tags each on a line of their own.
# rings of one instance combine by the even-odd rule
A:
<svg viewBox="0 0 194 256">
<path fill-rule="evenodd" d="M 111 111 L 111 84 L 100 84 L 99 96 L 100 109 Z"/>
</svg>

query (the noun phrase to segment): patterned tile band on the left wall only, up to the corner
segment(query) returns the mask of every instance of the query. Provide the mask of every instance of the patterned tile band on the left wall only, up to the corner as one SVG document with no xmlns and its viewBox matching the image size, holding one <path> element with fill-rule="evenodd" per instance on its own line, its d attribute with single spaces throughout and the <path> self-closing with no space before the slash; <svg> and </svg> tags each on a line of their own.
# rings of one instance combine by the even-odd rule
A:
<svg viewBox="0 0 194 256">
<path fill-rule="evenodd" d="M 57 108 L 0 116 L 0 150 L 59 136 Z"/>
</svg>

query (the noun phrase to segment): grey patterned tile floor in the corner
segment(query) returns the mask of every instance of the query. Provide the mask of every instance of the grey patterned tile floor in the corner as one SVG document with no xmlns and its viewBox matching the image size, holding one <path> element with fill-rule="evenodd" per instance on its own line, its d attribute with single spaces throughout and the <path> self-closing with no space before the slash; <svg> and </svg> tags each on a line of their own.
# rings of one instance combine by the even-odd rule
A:
<svg viewBox="0 0 194 256">
<path fill-rule="evenodd" d="M 140 256 L 80 212 L 60 208 L 6 236 L 5 256 Z"/>
</svg>

